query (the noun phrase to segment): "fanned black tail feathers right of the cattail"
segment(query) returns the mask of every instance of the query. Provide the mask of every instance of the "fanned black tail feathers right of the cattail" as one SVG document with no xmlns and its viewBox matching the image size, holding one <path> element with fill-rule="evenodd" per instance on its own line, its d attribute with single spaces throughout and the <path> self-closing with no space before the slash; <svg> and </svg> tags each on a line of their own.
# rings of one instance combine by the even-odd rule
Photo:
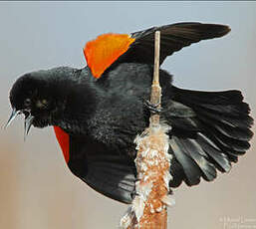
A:
<svg viewBox="0 0 256 229">
<path fill-rule="evenodd" d="M 172 126 L 170 186 L 182 181 L 195 185 L 200 177 L 211 181 L 216 170 L 228 172 L 231 162 L 250 147 L 253 118 L 239 91 L 209 93 L 173 87 L 170 103 L 164 107 Z"/>
</svg>

